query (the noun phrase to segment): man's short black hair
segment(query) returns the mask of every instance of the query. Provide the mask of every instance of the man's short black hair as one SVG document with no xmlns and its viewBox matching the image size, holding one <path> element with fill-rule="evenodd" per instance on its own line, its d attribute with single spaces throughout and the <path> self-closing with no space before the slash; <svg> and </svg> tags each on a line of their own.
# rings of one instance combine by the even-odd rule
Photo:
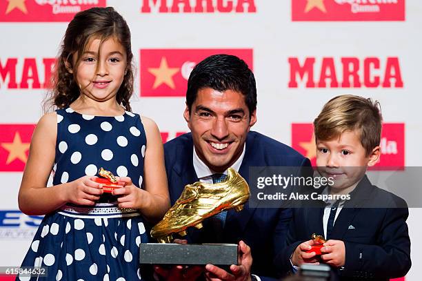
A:
<svg viewBox="0 0 422 281">
<path fill-rule="evenodd" d="M 257 86 L 248 65 L 233 55 L 212 55 L 194 67 L 188 79 L 186 104 L 189 113 L 202 88 L 223 92 L 234 90 L 245 97 L 245 104 L 251 114 L 257 109 Z"/>
</svg>

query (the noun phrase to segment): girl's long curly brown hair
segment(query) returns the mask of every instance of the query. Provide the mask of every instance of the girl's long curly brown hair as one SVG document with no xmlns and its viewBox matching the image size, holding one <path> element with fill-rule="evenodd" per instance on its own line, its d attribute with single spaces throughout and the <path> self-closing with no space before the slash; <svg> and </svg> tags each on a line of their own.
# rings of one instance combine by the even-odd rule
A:
<svg viewBox="0 0 422 281">
<path fill-rule="evenodd" d="M 43 104 L 45 112 L 54 108 L 66 108 L 79 97 L 81 89 L 76 75 L 83 52 L 92 39 L 101 39 L 101 46 L 109 38 L 117 39 L 125 48 L 128 65 L 116 99 L 125 110 L 131 111 L 129 99 L 133 93 L 134 67 L 130 30 L 125 19 L 113 8 L 107 7 L 78 12 L 70 21 L 54 66 L 52 90 Z"/>
</svg>

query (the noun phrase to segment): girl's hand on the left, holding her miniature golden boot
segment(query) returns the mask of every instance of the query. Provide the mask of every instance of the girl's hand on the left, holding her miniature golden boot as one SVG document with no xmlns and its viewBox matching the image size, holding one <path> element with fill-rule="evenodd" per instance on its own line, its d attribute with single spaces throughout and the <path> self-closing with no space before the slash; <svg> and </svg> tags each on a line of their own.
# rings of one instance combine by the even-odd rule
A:
<svg viewBox="0 0 422 281">
<path fill-rule="evenodd" d="M 69 182 L 65 188 L 66 201 L 78 205 L 94 205 L 103 194 L 103 188 L 99 183 L 94 182 L 96 177 L 86 175 L 78 180 Z"/>
</svg>

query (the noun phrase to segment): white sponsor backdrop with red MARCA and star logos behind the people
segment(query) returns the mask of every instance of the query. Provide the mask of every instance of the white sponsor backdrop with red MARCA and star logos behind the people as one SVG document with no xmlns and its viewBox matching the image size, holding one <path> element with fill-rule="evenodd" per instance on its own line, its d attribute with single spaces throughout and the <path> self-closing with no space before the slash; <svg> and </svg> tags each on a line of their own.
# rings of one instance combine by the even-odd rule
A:
<svg viewBox="0 0 422 281">
<path fill-rule="evenodd" d="M 336 95 L 372 97 L 385 121 L 379 165 L 420 165 L 421 1 L 3 0 L 1 266 L 21 263 L 41 220 L 19 211 L 23 167 L 66 26 L 92 6 L 113 6 L 128 21 L 138 70 L 132 108 L 157 122 L 163 142 L 188 131 L 184 95 L 194 65 L 225 52 L 256 75 L 254 130 L 314 160 L 311 124 L 323 104 Z M 422 275 L 421 215 L 410 209 L 414 266 L 406 280 Z"/>
</svg>

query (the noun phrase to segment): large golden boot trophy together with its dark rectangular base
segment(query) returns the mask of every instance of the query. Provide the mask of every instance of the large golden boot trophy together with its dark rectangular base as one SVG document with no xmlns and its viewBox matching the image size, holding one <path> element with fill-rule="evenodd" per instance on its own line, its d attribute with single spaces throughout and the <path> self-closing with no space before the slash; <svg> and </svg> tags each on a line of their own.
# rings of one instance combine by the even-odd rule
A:
<svg viewBox="0 0 422 281">
<path fill-rule="evenodd" d="M 152 238 L 160 243 L 139 245 L 139 263 L 216 264 L 223 267 L 237 264 L 237 244 L 174 244 L 171 243 L 172 234 L 185 235 L 190 226 L 201 229 L 203 220 L 221 211 L 241 211 L 249 197 L 248 183 L 232 168 L 228 169 L 224 182 L 186 185 L 174 206 L 151 230 Z"/>
</svg>

